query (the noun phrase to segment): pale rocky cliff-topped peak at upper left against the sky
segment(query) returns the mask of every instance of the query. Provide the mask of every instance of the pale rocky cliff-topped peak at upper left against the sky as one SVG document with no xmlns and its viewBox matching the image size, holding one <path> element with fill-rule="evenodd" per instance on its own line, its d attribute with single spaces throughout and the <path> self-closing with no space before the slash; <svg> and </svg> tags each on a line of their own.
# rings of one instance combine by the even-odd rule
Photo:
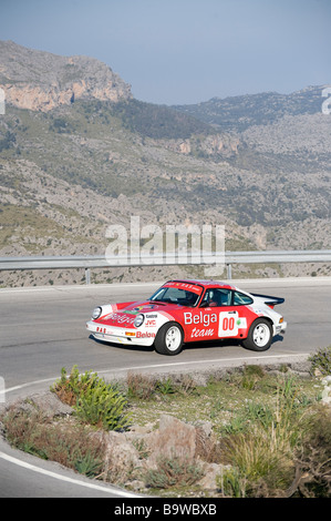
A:
<svg viewBox="0 0 331 521">
<path fill-rule="evenodd" d="M 46 112 L 79 99 L 117 102 L 131 85 L 110 67 L 89 57 L 60 57 L 0 41 L 0 88 L 6 103 Z"/>
</svg>

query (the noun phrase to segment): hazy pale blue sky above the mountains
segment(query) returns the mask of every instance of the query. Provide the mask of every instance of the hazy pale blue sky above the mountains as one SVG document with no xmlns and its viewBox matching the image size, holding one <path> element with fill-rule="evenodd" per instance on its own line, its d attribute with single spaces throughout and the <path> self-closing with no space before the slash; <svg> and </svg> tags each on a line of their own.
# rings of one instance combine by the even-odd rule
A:
<svg viewBox="0 0 331 521">
<path fill-rule="evenodd" d="M 0 39 L 97 58 L 168 105 L 331 84 L 331 0 L 0 0 Z"/>
</svg>

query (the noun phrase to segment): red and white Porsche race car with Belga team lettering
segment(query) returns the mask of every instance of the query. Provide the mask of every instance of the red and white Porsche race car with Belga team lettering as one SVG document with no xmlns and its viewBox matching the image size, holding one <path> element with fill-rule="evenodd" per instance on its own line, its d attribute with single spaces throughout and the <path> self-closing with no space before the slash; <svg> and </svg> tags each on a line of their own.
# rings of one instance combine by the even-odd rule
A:
<svg viewBox="0 0 331 521">
<path fill-rule="evenodd" d="M 215 280 L 169 280 L 145 302 L 96 307 L 86 327 L 97 339 L 154 345 L 162 355 L 177 355 L 189 341 L 221 338 L 235 338 L 248 349 L 265 351 L 287 328 L 273 309 L 283 300 Z"/>
</svg>

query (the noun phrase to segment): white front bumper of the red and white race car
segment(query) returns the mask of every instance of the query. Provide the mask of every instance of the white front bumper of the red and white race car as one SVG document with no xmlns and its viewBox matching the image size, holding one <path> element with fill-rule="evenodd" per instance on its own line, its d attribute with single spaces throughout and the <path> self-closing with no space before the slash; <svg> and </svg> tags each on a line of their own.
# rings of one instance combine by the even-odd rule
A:
<svg viewBox="0 0 331 521">
<path fill-rule="evenodd" d="M 155 333 L 142 329 L 128 329 L 124 327 L 105 326 L 103 324 L 89 320 L 86 329 L 94 338 L 108 341 L 111 344 L 125 344 L 130 346 L 152 346 L 155 340 Z"/>
</svg>

